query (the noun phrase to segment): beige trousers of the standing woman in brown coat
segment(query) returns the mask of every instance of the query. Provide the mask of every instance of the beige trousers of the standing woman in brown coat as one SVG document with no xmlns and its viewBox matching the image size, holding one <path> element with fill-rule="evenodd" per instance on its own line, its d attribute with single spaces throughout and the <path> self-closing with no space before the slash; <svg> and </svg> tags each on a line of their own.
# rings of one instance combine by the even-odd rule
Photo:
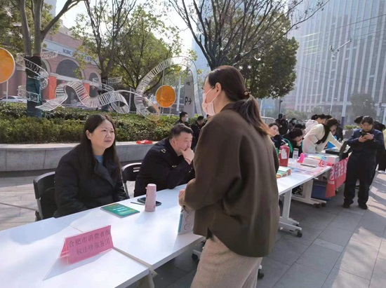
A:
<svg viewBox="0 0 386 288">
<path fill-rule="evenodd" d="M 213 235 L 206 240 L 191 288 L 255 288 L 261 260 L 232 252 Z"/>
</svg>

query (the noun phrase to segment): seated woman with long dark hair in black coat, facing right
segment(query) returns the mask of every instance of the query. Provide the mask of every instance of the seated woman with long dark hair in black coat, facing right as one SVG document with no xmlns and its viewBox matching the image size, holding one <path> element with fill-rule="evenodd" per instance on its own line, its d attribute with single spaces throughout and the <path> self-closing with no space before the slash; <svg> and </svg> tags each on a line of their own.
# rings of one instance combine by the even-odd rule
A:
<svg viewBox="0 0 386 288">
<path fill-rule="evenodd" d="M 55 171 L 54 217 L 127 199 L 115 149 L 115 128 L 107 115 L 88 117 L 81 144 L 60 159 Z"/>
</svg>

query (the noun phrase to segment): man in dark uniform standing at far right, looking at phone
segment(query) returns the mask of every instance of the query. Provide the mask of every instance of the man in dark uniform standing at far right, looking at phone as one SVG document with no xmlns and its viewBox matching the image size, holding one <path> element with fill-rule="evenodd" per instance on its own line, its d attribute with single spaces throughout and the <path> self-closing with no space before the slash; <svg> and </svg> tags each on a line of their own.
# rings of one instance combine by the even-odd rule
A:
<svg viewBox="0 0 386 288">
<path fill-rule="evenodd" d="M 368 190 L 373 181 L 377 163 L 378 149 L 385 149 L 382 132 L 373 128 L 374 120 L 370 116 L 361 119 L 361 129 L 356 129 L 347 144 L 352 154 L 347 163 L 345 184 L 345 202 L 343 207 L 349 208 L 354 203 L 355 184 L 359 179 L 358 205 L 367 209 Z"/>
</svg>

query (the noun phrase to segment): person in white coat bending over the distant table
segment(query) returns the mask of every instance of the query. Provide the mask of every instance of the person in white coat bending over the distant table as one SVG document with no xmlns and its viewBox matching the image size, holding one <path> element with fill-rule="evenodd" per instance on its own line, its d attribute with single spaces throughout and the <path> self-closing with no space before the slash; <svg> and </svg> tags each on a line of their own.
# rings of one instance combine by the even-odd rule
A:
<svg viewBox="0 0 386 288">
<path fill-rule="evenodd" d="M 333 137 L 338 124 L 338 120 L 331 118 L 325 124 L 314 125 L 310 132 L 305 135 L 303 152 L 320 153 L 326 147 L 327 142 L 340 148 L 342 144 Z"/>
</svg>

